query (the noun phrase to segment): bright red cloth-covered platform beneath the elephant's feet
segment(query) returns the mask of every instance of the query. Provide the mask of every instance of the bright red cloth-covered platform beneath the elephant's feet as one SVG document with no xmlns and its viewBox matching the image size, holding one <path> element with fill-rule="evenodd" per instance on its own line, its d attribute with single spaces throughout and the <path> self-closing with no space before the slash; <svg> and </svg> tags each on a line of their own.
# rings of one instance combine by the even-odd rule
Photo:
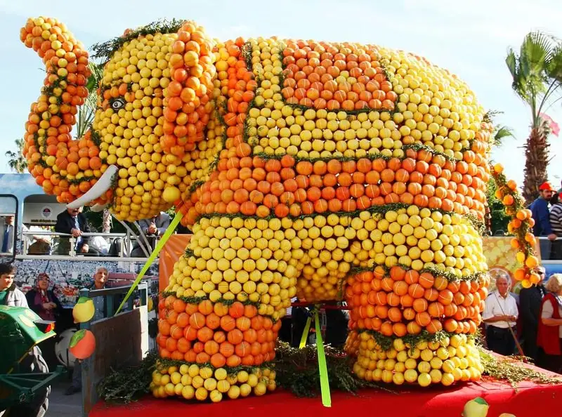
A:
<svg viewBox="0 0 562 417">
<path fill-rule="evenodd" d="M 520 383 L 517 390 L 508 383 L 481 380 L 452 388 L 403 387 L 396 393 L 362 390 L 353 396 L 332 392 L 332 407 L 322 406 L 320 397 L 297 398 L 277 390 L 263 397 L 223 400 L 218 404 L 197 404 L 179 399 L 145 397 L 126 406 L 96 404 L 90 417 L 459 417 L 464 404 L 483 397 L 490 404 L 488 417 L 513 413 L 516 417 L 555 417 L 562 415 L 562 385 Z"/>
</svg>

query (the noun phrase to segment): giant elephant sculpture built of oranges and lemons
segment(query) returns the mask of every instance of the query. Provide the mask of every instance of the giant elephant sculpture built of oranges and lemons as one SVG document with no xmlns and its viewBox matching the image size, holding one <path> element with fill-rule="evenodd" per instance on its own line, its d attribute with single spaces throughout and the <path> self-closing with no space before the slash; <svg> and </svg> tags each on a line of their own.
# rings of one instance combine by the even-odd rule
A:
<svg viewBox="0 0 562 417">
<path fill-rule="evenodd" d="M 492 126 L 455 75 L 381 46 L 161 22 L 96 47 L 98 110 L 72 140 L 88 53 L 51 18 L 21 39 L 46 65 L 24 150 L 45 192 L 122 220 L 174 204 L 193 232 L 159 303 L 157 397 L 273 390 L 294 296 L 346 301 L 360 378 L 480 378 Z"/>
</svg>

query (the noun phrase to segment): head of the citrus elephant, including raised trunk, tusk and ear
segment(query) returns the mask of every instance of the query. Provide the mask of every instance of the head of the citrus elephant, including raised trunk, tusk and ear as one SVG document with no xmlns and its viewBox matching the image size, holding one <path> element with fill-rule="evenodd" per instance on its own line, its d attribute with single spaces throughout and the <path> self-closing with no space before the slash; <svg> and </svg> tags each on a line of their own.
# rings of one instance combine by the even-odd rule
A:
<svg viewBox="0 0 562 417">
<path fill-rule="evenodd" d="M 111 206 L 130 221 L 188 200 L 192 181 L 220 150 L 213 140 L 215 130 L 221 134 L 212 100 L 214 44 L 201 27 L 165 22 L 98 46 L 105 65 L 96 114 L 77 139 L 71 131 L 88 96 L 88 52 L 51 18 L 27 20 L 20 39 L 47 73 L 23 150 L 46 193 L 72 207 Z"/>
</svg>

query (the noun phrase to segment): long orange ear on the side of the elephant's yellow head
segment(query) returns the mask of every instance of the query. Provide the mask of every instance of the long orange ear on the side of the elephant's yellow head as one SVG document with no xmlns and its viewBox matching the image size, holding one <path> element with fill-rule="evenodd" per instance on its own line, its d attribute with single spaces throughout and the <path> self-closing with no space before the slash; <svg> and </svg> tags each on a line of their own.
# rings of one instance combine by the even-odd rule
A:
<svg viewBox="0 0 562 417">
<path fill-rule="evenodd" d="M 216 79 L 214 41 L 195 22 L 186 21 L 172 44 L 171 81 L 164 90 L 164 135 L 160 145 L 166 154 L 183 157 L 204 138 L 214 109 Z"/>
</svg>

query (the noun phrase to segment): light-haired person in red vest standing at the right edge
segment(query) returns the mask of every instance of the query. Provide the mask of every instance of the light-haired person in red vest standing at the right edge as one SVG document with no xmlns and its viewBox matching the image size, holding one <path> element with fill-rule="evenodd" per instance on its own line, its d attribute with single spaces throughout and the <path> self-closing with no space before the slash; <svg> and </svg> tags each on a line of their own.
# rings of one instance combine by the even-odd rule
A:
<svg viewBox="0 0 562 417">
<path fill-rule="evenodd" d="M 562 274 L 553 274 L 544 286 L 547 294 L 540 307 L 537 332 L 537 364 L 556 373 L 562 371 Z"/>
</svg>

